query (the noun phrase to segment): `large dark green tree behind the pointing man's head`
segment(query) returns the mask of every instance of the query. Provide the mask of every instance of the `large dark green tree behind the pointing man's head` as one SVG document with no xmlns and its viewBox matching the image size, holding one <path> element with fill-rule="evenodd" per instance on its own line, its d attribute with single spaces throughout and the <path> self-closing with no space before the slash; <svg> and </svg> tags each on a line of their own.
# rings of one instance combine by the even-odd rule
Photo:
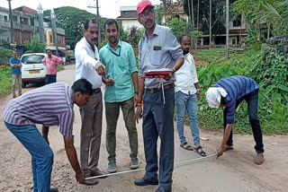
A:
<svg viewBox="0 0 288 192">
<path fill-rule="evenodd" d="M 104 39 L 103 23 L 105 22 L 105 18 L 72 6 L 58 7 L 54 11 L 58 26 L 64 28 L 66 37 L 71 39 L 67 41 L 67 45 L 70 45 L 71 48 L 74 48 L 76 42 L 83 37 L 84 22 L 89 18 L 94 18 L 99 22 L 101 39 Z M 50 10 L 44 11 L 44 16 L 50 18 Z"/>
</svg>

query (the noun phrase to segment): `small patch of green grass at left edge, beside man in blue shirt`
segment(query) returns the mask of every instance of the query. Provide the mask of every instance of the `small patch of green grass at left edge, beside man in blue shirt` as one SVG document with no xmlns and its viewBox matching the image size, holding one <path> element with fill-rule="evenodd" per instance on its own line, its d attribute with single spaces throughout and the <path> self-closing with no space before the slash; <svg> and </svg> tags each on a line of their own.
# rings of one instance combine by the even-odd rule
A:
<svg viewBox="0 0 288 192">
<path fill-rule="evenodd" d="M 12 74 L 11 67 L 0 68 L 0 96 L 11 92 Z"/>
</svg>

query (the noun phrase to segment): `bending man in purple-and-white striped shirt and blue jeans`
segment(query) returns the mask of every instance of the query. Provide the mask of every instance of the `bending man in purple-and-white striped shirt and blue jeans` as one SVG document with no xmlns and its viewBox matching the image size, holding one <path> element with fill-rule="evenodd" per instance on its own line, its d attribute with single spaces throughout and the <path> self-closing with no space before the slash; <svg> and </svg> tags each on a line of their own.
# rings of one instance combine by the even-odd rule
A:
<svg viewBox="0 0 288 192">
<path fill-rule="evenodd" d="M 40 135 L 35 124 L 60 127 L 67 158 L 76 172 L 76 180 L 87 184 L 73 144 L 73 106 L 74 103 L 78 107 L 84 106 L 91 94 L 92 84 L 85 79 L 79 79 L 72 87 L 67 83 L 51 83 L 26 92 L 4 106 L 6 127 L 31 153 L 34 191 L 57 191 L 57 188 L 50 188 L 53 152 L 49 147 L 48 133 Z"/>
</svg>

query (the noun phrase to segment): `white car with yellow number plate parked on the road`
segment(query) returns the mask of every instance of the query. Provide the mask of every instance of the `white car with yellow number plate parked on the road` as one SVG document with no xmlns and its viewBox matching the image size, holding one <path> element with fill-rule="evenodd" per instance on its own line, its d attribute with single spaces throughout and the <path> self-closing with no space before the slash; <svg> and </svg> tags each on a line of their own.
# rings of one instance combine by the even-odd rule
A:
<svg viewBox="0 0 288 192">
<path fill-rule="evenodd" d="M 42 64 L 44 53 L 23 54 L 22 63 L 22 87 L 28 83 L 45 83 L 46 66 Z"/>
</svg>

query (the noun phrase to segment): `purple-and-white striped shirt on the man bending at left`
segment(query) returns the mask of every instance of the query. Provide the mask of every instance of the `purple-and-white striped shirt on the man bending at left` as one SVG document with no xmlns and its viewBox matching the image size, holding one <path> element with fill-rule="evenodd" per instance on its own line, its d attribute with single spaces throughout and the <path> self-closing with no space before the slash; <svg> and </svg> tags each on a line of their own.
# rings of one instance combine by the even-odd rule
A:
<svg viewBox="0 0 288 192">
<path fill-rule="evenodd" d="M 15 125 L 60 126 L 60 133 L 72 138 L 74 98 L 67 83 L 50 83 L 10 100 L 4 106 L 4 121 Z"/>
</svg>

